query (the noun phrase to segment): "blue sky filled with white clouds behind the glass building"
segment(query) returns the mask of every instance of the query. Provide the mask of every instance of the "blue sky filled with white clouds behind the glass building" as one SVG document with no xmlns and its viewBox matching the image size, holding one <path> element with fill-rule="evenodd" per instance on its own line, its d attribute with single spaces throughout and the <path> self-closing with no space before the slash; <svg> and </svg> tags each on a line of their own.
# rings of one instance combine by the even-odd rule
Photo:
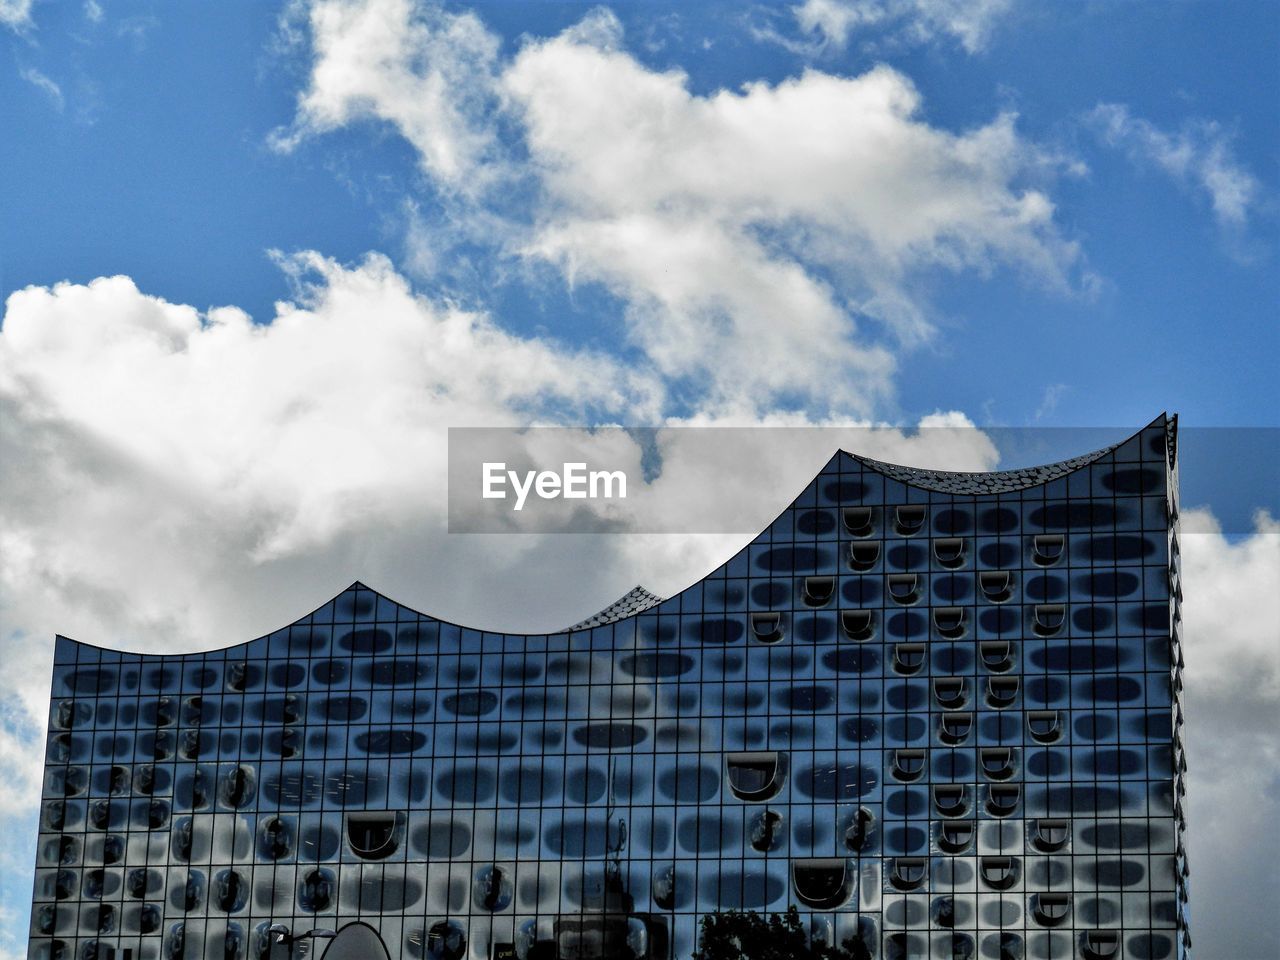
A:
<svg viewBox="0 0 1280 960">
<path fill-rule="evenodd" d="M 831 454 L 794 428 L 984 470 L 1165 410 L 1193 934 L 1270 956 L 1277 41 L 1271 0 L 0 0 L 0 960 L 55 632 L 210 649 L 353 580 L 550 628 L 746 539 L 451 535 L 451 426 L 777 426 L 763 525 Z M 735 466 L 671 433 L 655 499 Z"/>
</svg>

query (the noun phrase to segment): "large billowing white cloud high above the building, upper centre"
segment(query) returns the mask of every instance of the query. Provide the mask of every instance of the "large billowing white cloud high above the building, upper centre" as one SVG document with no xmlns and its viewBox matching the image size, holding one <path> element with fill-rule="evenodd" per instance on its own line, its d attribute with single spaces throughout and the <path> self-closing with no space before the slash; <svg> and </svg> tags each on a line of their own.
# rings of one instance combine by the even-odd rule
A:
<svg viewBox="0 0 1280 960">
<path fill-rule="evenodd" d="M 393 124 L 451 225 L 616 294 L 627 342 L 699 408 L 872 412 L 895 351 L 932 333 L 913 283 L 931 270 L 1071 285 L 1055 161 L 1011 114 L 931 125 L 890 68 L 704 96 L 628 54 L 605 10 L 509 58 L 474 15 L 407 0 L 320 0 L 296 22 L 311 72 L 282 143 Z M 426 269 L 433 239 L 415 219 Z"/>
</svg>

